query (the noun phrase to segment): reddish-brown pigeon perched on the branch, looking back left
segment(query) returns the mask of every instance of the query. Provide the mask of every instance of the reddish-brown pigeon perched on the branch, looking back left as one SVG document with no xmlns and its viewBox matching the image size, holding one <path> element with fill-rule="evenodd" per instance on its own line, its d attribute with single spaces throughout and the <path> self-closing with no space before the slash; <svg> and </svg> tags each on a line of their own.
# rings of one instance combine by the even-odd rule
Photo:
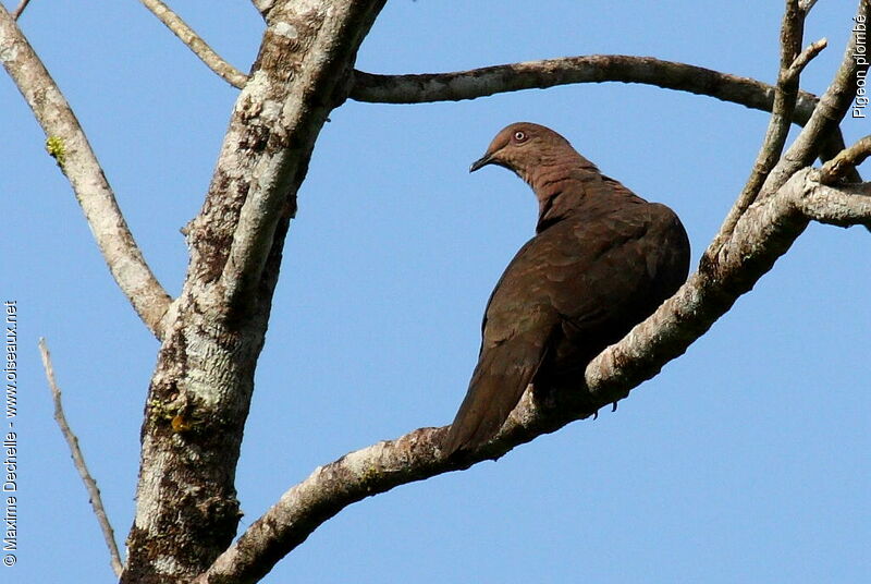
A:
<svg viewBox="0 0 871 584">
<path fill-rule="evenodd" d="M 600 173 L 556 132 L 511 124 L 469 172 L 487 165 L 532 187 L 538 224 L 490 296 L 449 455 L 493 438 L 530 382 L 537 396 L 585 391 L 587 364 L 650 316 L 689 269 L 689 240 L 674 211 Z"/>
</svg>

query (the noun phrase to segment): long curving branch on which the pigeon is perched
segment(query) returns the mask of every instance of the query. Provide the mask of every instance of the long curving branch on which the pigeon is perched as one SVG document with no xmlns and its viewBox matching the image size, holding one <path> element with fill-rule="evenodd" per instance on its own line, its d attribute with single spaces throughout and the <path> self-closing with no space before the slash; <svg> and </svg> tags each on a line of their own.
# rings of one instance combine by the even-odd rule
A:
<svg viewBox="0 0 871 584">
<path fill-rule="evenodd" d="M 820 185 L 806 169 L 778 193 L 752 205 L 724 244 L 715 269 L 694 273 L 680 290 L 586 370 L 589 393 L 541 404 L 527 390 L 489 445 L 462 459 L 440 450 L 447 427 L 420 428 L 352 452 L 292 487 L 194 582 L 256 582 L 320 524 L 366 497 L 397 485 L 496 459 L 517 445 L 592 415 L 625 398 L 683 354 L 786 253 L 811 219 L 834 224 L 871 221 L 871 184 Z"/>
</svg>

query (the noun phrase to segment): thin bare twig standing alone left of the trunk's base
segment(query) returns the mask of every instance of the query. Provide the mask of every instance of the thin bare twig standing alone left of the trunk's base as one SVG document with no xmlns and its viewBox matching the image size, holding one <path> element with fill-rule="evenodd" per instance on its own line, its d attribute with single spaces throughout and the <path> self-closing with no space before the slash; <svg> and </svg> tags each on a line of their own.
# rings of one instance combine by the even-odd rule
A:
<svg viewBox="0 0 871 584">
<path fill-rule="evenodd" d="M 100 497 L 100 489 L 97 487 L 97 482 L 90 476 L 88 466 L 85 464 L 85 457 L 82 454 L 82 449 L 78 448 L 78 438 L 73 434 L 73 430 L 66 423 L 66 416 L 63 414 L 61 390 L 54 379 L 54 367 L 51 364 L 51 354 L 48 351 L 46 340 L 42 338 L 39 339 L 39 354 L 42 356 L 42 367 L 46 369 L 46 379 L 48 380 L 48 387 L 51 389 L 51 398 L 54 402 L 54 421 L 58 423 L 58 427 L 60 427 L 61 434 L 63 434 L 63 438 L 66 440 L 66 445 L 70 447 L 70 454 L 73 458 L 75 470 L 78 471 L 78 476 L 82 477 L 85 489 L 88 491 L 90 506 L 94 509 L 94 514 L 97 516 L 97 523 L 100 524 L 100 531 L 102 531 L 106 547 L 109 548 L 112 571 L 116 576 L 120 576 L 121 572 L 124 570 L 124 564 L 121 561 L 121 553 L 118 551 L 118 545 L 115 544 L 115 533 L 112 530 L 112 524 L 109 522 L 109 516 L 106 514 L 106 509 L 102 507 L 102 498 Z"/>
</svg>

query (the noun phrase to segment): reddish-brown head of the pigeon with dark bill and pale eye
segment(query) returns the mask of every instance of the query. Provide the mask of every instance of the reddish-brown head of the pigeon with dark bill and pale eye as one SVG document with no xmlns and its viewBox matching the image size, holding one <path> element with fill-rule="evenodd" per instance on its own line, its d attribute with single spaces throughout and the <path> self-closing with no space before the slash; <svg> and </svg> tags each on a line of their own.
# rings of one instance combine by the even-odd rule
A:
<svg viewBox="0 0 871 584">
<path fill-rule="evenodd" d="M 484 155 L 469 167 L 469 172 L 496 165 L 514 171 L 531 184 L 536 168 L 553 163 L 565 153 L 576 155 L 568 141 L 553 130 L 531 122 L 517 122 L 496 134 Z"/>
</svg>

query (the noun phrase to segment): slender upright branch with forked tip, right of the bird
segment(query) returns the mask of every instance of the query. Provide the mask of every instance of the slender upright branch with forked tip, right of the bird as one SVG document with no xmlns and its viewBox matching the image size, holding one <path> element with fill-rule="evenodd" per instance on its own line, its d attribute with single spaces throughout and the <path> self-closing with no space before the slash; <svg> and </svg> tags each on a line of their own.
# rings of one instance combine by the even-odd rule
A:
<svg viewBox="0 0 871 584">
<path fill-rule="evenodd" d="M 809 48 L 799 54 L 803 28 L 805 14 L 798 8 L 798 0 L 787 0 L 781 24 L 781 65 L 777 72 L 777 86 L 774 89 L 774 106 L 771 110 L 765 137 L 762 139 L 762 146 L 747 183 L 726 215 L 723 226 L 709 250 L 717 250 L 732 235 L 738 218 L 756 200 L 765 178 L 781 158 L 786 137 L 789 135 L 793 111 L 798 97 L 799 74 L 803 69 L 801 63 L 807 63 L 811 54 L 819 52 L 819 50 L 814 52 L 814 49 Z"/>
</svg>

